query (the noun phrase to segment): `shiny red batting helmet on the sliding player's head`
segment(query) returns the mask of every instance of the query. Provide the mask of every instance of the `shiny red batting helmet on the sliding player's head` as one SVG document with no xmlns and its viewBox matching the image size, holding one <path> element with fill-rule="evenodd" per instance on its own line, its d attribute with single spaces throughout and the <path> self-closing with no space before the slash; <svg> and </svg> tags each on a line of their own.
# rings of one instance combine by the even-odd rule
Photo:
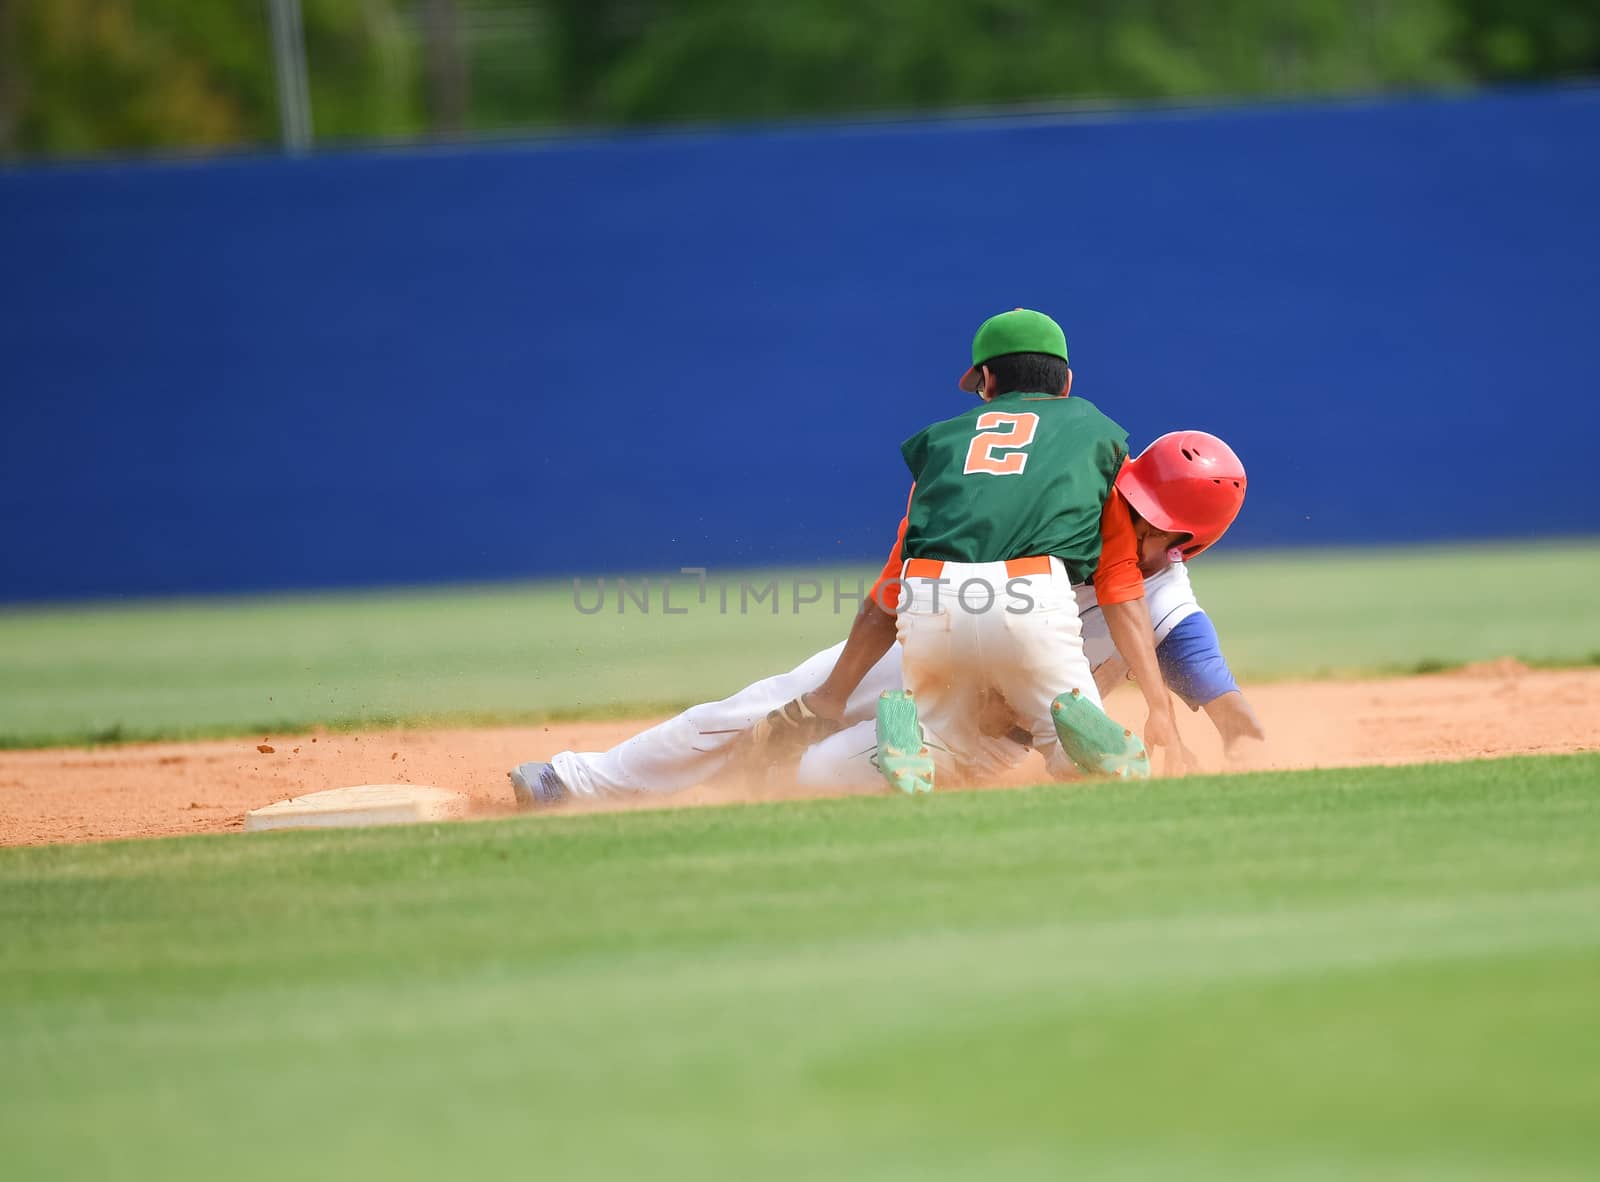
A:
<svg viewBox="0 0 1600 1182">
<path fill-rule="evenodd" d="M 1139 517 L 1173 534 L 1189 534 L 1184 560 L 1227 533 L 1245 504 L 1245 465 L 1203 430 L 1162 435 L 1122 465 L 1117 491 Z"/>
</svg>

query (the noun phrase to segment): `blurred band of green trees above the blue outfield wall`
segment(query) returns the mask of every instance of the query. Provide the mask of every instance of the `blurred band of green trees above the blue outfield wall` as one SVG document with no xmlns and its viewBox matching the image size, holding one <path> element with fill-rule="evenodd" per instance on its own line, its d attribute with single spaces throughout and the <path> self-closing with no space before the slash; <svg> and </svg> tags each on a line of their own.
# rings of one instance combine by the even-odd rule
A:
<svg viewBox="0 0 1600 1182">
<path fill-rule="evenodd" d="M 277 136 L 267 0 L 0 0 L 0 152 Z M 301 0 L 318 139 L 1600 74 L 1600 0 Z"/>
</svg>

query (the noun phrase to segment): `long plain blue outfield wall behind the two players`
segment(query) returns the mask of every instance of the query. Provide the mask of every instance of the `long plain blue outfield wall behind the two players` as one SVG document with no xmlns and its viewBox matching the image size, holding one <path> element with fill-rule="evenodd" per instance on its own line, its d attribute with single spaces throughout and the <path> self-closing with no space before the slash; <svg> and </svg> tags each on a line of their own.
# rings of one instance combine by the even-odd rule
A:
<svg viewBox="0 0 1600 1182">
<path fill-rule="evenodd" d="M 1600 91 L 0 173 L 0 598 L 877 558 L 973 328 L 1234 545 L 1600 531 Z"/>
</svg>

